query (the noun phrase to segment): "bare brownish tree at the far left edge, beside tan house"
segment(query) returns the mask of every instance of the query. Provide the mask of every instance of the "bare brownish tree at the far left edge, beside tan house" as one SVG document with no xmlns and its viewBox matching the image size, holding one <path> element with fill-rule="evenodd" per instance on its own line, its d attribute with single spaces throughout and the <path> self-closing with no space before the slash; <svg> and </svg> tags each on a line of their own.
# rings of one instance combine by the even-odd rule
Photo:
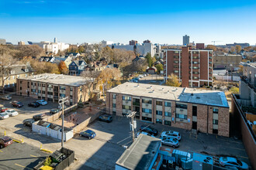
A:
<svg viewBox="0 0 256 170">
<path fill-rule="evenodd" d="M 2 93 L 5 93 L 5 80 L 9 78 L 12 66 L 18 62 L 18 59 L 12 57 L 16 53 L 17 51 L 15 49 L 0 46 L 0 77 L 2 80 Z"/>
</svg>

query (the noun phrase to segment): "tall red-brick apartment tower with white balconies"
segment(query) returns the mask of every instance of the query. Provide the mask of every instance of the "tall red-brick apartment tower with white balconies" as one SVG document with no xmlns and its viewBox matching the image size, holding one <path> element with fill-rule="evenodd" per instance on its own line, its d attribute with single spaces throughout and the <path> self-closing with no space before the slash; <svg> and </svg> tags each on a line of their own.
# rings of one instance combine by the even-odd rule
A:
<svg viewBox="0 0 256 170">
<path fill-rule="evenodd" d="M 200 46 L 202 48 L 202 46 Z M 174 73 L 182 87 L 211 86 L 213 83 L 213 50 L 164 49 L 164 79 Z"/>
</svg>

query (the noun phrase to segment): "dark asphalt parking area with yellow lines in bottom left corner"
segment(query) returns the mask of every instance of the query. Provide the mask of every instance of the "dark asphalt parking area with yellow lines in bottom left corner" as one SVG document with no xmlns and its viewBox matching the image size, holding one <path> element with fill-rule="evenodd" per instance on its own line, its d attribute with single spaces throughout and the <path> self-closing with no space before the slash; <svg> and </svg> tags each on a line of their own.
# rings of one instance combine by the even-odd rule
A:
<svg viewBox="0 0 256 170">
<path fill-rule="evenodd" d="M 0 169 L 22 170 L 33 169 L 35 165 L 47 157 L 47 153 L 31 145 L 13 142 L 0 150 Z"/>
</svg>

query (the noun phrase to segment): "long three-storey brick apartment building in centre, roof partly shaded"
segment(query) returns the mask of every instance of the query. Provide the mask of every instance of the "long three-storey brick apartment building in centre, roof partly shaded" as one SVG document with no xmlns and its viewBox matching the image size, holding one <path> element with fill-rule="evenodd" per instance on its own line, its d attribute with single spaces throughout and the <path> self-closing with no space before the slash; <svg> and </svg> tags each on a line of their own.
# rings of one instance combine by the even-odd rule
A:
<svg viewBox="0 0 256 170">
<path fill-rule="evenodd" d="M 229 106 L 220 91 L 123 83 L 106 92 L 106 107 L 109 114 L 137 111 L 142 121 L 229 136 Z"/>
</svg>

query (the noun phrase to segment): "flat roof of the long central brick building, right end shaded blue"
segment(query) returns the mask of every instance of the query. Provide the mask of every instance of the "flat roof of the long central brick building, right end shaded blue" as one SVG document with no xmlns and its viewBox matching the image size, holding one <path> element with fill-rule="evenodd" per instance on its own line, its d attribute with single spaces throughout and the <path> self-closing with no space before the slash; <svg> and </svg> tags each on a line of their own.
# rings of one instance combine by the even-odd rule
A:
<svg viewBox="0 0 256 170">
<path fill-rule="evenodd" d="M 137 97 L 158 98 L 161 100 L 176 100 L 193 104 L 229 107 L 225 93 L 217 90 L 126 82 L 108 90 L 108 92 L 123 93 Z"/>
</svg>

